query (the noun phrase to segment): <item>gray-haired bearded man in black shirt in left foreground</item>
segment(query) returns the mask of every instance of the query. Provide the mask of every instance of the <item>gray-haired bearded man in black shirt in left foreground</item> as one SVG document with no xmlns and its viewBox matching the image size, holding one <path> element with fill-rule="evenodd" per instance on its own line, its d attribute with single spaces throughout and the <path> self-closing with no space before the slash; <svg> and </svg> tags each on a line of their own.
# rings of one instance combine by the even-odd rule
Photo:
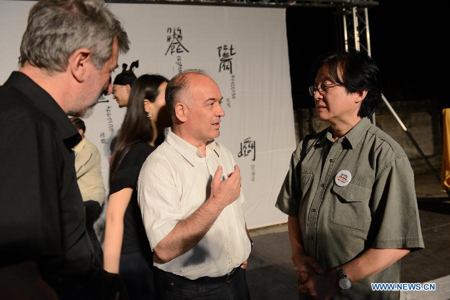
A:
<svg viewBox="0 0 450 300">
<path fill-rule="evenodd" d="M 85 115 L 100 93 L 111 93 L 118 53 L 128 48 L 103 1 L 40 0 L 31 8 L 20 68 L 0 87 L 2 298 L 117 296 L 119 278 L 99 268 L 86 234 L 71 150 L 81 136 L 66 115 Z M 39 277 L 48 285 L 36 286 Z"/>
</svg>

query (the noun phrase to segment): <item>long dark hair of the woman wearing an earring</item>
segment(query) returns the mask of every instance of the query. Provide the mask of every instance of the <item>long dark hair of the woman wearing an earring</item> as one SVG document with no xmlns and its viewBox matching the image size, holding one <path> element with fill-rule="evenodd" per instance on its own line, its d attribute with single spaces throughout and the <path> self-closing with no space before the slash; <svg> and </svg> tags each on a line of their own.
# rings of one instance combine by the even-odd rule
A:
<svg viewBox="0 0 450 300">
<path fill-rule="evenodd" d="M 159 94 L 159 85 L 167 81 L 167 78 L 158 74 L 144 74 L 134 81 L 125 117 L 112 152 L 109 180 L 114 177 L 123 157 L 132 145 L 153 139 L 153 125 L 146 116 L 143 100 L 154 102 Z"/>
</svg>

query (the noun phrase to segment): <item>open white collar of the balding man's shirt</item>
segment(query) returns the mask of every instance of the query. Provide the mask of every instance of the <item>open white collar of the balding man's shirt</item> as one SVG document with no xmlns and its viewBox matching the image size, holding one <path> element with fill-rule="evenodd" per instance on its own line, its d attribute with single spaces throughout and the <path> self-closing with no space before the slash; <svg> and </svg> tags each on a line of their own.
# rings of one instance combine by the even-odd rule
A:
<svg viewBox="0 0 450 300">
<path fill-rule="evenodd" d="M 195 161 L 198 158 L 203 158 L 197 147 L 173 133 L 171 127 L 169 128 L 165 141 L 192 165 L 195 164 Z M 211 152 L 214 155 L 217 155 L 217 157 L 220 156 L 220 145 L 214 140 L 210 140 L 206 143 L 206 157 L 212 155 L 210 154 Z"/>
</svg>

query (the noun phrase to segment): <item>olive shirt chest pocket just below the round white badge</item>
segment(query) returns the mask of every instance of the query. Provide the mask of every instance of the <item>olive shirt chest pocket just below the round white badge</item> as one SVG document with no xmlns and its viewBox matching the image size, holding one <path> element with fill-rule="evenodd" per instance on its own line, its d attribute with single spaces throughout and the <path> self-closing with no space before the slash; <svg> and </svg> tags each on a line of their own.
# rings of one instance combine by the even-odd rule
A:
<svg viewBox="0 0 450 300">
<path fill-rule="evenodd" d="M 333 197 L 331 221 L 334 224 L 368 231 L 371 221 L 369 200 L 372 189 L 349 182 L 345 186 L 334 184 L 332 190 L 336 197 Z"/>
</svg>

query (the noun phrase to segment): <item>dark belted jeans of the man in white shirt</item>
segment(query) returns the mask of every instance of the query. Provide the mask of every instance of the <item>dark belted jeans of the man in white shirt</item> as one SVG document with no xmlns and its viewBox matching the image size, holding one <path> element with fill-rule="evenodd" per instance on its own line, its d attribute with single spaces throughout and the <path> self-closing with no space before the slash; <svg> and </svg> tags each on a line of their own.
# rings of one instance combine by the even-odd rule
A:
<svg viewBox="0 0 450 300">
<path fill-rule="evenodd" d="M 158 270 L 161 300 L 250 300 L 245 269 L 240 268 L 228 282 L 208 283 L 207 278 L 190 280 Z"/>
</svg>

